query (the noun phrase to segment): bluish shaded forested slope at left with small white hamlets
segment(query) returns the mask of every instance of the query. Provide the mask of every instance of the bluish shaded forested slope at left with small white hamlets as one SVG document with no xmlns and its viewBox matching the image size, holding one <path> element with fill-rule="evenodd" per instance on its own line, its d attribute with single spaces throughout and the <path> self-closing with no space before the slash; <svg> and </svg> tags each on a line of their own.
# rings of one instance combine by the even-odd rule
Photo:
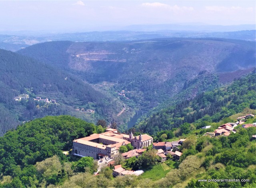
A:
<svg viewBox="0 0 256 188">
<path fill-rule="evenodd" d="M 104 116 L 112 121 L 122 110 L 121 103 L 77 76 L 32 58 L 0 50 L 0 65 L 0 136 L 22 121 L 46 115 L 72 114 L 88 121 Z M 14 100 L 22 94 L 28 94 L 29 98 Z M 54 99 L 57 103 L 35 101 L 36 96 Z M 95 113 L 86 116 L 74 106 L 92 108 Z"/>
</svg>

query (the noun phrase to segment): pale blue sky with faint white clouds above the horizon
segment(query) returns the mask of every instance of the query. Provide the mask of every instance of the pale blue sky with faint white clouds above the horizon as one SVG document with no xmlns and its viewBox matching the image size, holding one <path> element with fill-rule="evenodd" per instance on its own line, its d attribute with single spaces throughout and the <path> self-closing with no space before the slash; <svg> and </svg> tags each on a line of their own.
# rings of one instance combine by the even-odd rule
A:
<svg viewBox="0 0 256 188">
<path fill-rule="evenodd" d="M 256 23 L 254 0 L 0 0 L 0 30 L 86 32 L 140 24 Z"/>
</svg>

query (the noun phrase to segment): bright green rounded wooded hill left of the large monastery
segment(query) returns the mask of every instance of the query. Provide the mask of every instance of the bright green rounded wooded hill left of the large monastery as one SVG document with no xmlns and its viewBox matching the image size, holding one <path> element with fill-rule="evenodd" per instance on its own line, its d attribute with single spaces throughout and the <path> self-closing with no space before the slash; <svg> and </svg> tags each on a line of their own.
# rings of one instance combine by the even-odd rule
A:
<svg viewBox="0 0 256 188">
<path fill-rule="evenodd" d="M 10 177 L 13 181 L 9 185 L 0 183 L 0 187 L 18 188 L 22 187 L 20 184 L 38 187 L 44 183 L 63 181 L 67 172 L 61 168 L 60 161 L 64 164 L 70 158 L 66 158 L 62 151 L 69 151 L 74 139 L 93 133 L 96 133 L 94 124 L 71 116 L 48 116 L 7 132 L 0 137 L 0 177 Z M 41 164 L 40 169 L 35 165 L 54 155 L 56 160 L 49 161 L 50 165 Z M 54 163 L 56 161 L 57 164 Z M 47 174 L 50 169 L 54 169 L 54 173 Z"/>
</svg>

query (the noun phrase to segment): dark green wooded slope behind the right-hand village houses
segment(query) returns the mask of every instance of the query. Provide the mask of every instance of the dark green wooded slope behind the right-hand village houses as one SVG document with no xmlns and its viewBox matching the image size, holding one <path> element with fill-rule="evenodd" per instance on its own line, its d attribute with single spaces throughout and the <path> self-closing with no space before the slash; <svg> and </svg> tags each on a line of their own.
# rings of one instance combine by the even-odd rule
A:
<svg viewBox="0 0 256 188">
<path fill-rule="evenodd" d="M 145 118 L 135 127 L 142 132 L 156 134 L 161 130 L 177 128 L 184 122 L 218 122 L 222 118 L 256 109 L 256 74 L 249 74 L 228 86 L 199 94 Z M 201 123 L 198 128 L 205 126 Z"/>
</svg>

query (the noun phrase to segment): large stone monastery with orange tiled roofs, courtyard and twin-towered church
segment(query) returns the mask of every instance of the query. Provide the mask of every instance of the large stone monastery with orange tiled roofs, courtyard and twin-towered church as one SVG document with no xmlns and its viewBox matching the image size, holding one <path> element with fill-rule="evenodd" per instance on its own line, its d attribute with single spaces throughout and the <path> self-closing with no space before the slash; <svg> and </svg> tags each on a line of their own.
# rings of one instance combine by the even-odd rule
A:
<svg viewBox="0 0 256 188">
<path fill-rule="evenodd" d="M 147 134 L 133 136 L 133 134 L 118 133 L 116 129 L 108 128 L 101 134 L 73 140 L 72 154 L 76 156 L 89 156 L 94 159 L 110 157 L 118 154 L 120 146 L 132 144 L 134 149 L 141 149 L 152 144 L 153 138 Z"/>
</svg>

